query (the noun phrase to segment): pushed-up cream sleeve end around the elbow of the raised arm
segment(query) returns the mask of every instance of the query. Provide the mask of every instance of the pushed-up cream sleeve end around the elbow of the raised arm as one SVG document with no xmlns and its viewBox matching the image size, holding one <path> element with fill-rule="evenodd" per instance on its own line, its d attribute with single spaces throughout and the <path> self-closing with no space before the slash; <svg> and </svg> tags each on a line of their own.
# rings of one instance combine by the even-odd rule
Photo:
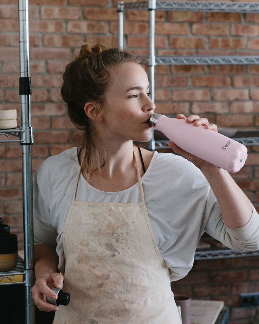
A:
<svg viewBox="0 0 259 324">
<path fill-rule="evenodd" d="M 215 208 L 219 209 L 216 204 Z M 259 215 L 253 207 L 250 220 L 242 227 L 231 228 L 224 224 L 221 214 L 209 217 L 205 232 L 236 251 L 255 251 L 259 249 Z"/>
</svg>

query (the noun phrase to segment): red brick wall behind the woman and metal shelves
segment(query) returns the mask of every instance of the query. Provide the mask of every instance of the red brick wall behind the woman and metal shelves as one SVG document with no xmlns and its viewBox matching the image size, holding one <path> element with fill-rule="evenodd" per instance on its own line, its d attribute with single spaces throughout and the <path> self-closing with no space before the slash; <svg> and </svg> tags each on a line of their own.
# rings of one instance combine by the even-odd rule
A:
<svg viewBox="0 0 259 324">
<path fill-rule="evenodd" d="M 116 5 L 117 0 L 29 0 L 33 171 L 80 138 L 60 95 L 62 73 L 84 42 L 117 46 Z M 258 14 L 156 12 L 156 51 L 258 55 L 258 22 Z M 124 28 L 126 47 L 147 54 L 148 13 L 127 11 Z M 220 127 L 257 129 L 258 72 L 257 65 L 157 66 L 156 112 L 199 114 Z M 17 0 L 1 0 L 0 109 L 17 109 L 19 123 L 18 83 Z M 234 178 L 259 209 L 259 146 L 248 150 L 246 166 Z M 0 215 L 21 242 L 20 145 L 0 145 Z M 237 296 L 259 291 L 257 264 L 256 257 L 196 261 L 190 274 L 175 283 L 175 291 L 224 300 L 233 307 L 231 324 L 248 324 L 254 309 L 240 308 Z"/>
</svg>

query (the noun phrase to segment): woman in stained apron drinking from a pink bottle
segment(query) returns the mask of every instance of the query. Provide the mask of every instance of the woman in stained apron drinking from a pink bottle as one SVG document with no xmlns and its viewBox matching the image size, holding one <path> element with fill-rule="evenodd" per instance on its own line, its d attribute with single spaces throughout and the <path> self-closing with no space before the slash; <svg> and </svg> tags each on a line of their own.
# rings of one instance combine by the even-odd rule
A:
<svg viewBox="0 0 259 324">
<path fill-rule="evenodd" d="M 228 172 L 172 142 L 186 158 L 133 145 L 152 136 L 143 62 L 86 44 L 63 75 L 84 143 L 49 157 L 34 179 L 33 298 L 57 311 L 46 296 L 57 298 L 60 272 L 71 294 L 54 323 L 178 324 L 170 281 L 191 269 L 204 231 L 232 249 L 259 249 L 259 216 Z M 198 116 L 186 122 L 217 131 Z"/>
</svg>

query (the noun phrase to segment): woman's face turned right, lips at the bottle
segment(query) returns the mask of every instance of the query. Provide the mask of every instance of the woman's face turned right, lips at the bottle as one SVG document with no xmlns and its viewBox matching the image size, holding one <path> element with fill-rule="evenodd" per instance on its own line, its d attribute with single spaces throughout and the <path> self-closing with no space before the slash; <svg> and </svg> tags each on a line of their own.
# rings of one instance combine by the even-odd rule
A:
<svg viewBox="0 0 259 324">
<path fill-rule="evenodd" d="M 102 107 L 106 135 L 122 141 L 151 140 L 155 104 L 149 97 L 149 81 L 141 65 L 127 62 L 112 67 Z"/>
</svg>

